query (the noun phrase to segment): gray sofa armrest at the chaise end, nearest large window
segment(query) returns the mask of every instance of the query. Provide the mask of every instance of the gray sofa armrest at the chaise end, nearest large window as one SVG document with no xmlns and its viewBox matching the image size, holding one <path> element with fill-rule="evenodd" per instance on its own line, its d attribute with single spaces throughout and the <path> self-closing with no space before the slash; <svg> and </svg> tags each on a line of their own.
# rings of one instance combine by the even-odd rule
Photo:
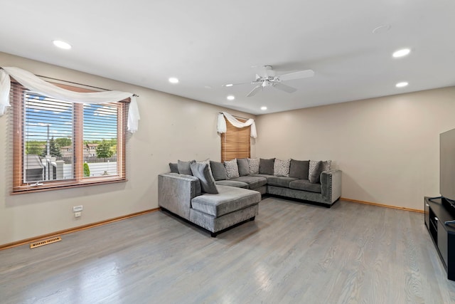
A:
<svg viewBox="0 0 455 304">
<path fill-rule="evenodd" d="M 158 175 L 159 206 L 184 219 L 190 219 L 191 199 L 200 194 L 197 177 L 176 173 Z"/>
</svg>

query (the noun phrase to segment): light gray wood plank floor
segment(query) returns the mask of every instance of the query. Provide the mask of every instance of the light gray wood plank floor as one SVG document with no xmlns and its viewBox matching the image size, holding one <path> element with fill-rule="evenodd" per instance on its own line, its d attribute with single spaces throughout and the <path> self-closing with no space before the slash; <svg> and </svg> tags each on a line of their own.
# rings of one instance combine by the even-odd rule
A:
<svg viewBox="0 0 455 304">
<path fill-rule="evenodd" d="M 164 211 L 0 251 L 0 303 L 455 303 L 423 214 L 277 198 L 210 238 Z"/>
</svg>

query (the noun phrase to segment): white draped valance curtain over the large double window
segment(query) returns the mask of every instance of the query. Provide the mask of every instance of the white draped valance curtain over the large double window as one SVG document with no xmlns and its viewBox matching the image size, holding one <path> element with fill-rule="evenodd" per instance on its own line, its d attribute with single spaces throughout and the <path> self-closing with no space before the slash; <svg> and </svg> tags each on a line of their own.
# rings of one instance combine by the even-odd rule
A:
<svg viewBox="0 0 455 304">
<path fill-rule="evenodd" d="M 136 132 L 139 127 L 139 108 L 137 107 L 136 95 L 129 92 L 106 91 L 93 93 L 80 93 L 65 90 L 38 78 L 33 73 L 15 67 L 2 67 L 0 69 L 0 116 L 4 115 L 5 108 L 9 106 L 9 90 L 11 89 L 11 79 L 9 76 L 21 83 L 28 90 L 35 93 L 68 101 L 70 103 L 114 103 L 126 98 L 130 98 L 128 111 L 128 130 Z"/>
</svg>

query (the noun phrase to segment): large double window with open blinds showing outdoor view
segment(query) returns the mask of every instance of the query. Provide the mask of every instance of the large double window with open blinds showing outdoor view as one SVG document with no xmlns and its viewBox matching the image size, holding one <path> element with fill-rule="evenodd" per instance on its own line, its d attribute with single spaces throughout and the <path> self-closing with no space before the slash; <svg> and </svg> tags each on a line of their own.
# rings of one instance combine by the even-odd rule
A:
<svg viewBox="0 0 455 304">
<path fill-rule="evenodd" d="M 125 181 L 128 102 L 69 103 L 12 81 L 13 192 Z"/>
</svg>

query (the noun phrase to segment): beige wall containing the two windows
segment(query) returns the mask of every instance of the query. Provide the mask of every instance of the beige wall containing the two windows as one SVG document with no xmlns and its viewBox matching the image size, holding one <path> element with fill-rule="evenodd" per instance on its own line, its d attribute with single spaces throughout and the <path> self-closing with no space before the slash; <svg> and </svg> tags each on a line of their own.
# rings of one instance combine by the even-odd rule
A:
<svg viewBox="0 0 455 304">
<path fill-rule="evenodd" d="M 74 70 L 0 53 L 0 66 L 17 66 L 52 78 L 139 95 L 139 131 L 127 142 L 128 182 L 10 195 L 7 116 L 0 117 L 0 244 L 158 207 L 157 175 L 177 159 L 220 161 L 216 117 L 223 108 Z M 228 110 L 233 115 L 253 117 Z M 252 147 L 255 153 L 255 147 Z M 75 219 L 73 206 L 82 204 Z"/>
</svg>

